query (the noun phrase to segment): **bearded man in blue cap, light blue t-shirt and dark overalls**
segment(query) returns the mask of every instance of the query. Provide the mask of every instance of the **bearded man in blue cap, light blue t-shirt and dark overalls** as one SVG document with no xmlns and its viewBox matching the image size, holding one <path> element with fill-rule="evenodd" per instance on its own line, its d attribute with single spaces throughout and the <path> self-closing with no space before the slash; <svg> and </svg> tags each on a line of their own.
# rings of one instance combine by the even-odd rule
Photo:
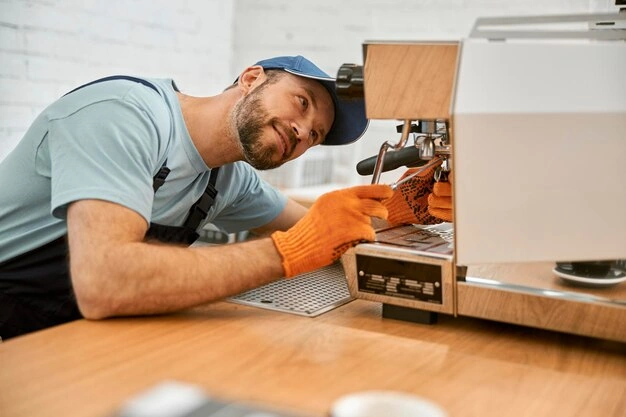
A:
<svg viewBox="0 0 626 417">
<path fill-rule="evenodd" d="M 293 277 L 374 239 L 371 217 L 387 217 L 385 185 L 329 193 L 307 212 L 256 175 L 367 127 L 362 100 L 338 98 L 305 58 L 260 61 L 212 97 L 112 78 L 50 105 L 0 163 L 0 337 Z M 187 247 L 208 222 L 266 237 Z"/>
</svg>

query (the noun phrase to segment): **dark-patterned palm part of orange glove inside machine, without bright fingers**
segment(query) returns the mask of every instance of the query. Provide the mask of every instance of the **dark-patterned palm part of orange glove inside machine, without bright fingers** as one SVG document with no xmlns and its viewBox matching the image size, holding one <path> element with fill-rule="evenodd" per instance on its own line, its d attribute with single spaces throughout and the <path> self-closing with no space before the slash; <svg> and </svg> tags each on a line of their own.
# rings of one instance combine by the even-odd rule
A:
<svg viewBox="0 0 626 417">
<path fill-rule="evenodd" d="M 436 224 L 441 220 L 434 217 L 428 207 L 428 196 L 433 192 L 435 169 L 433 166 L 419 175 L 414 176 L 396 188 L 393 196 L 384 202 L 389 211 L 387 221 L 392 226 L 399 224 Z M 400 180 L 421 168 L 408 169 Z"/>
</svg>

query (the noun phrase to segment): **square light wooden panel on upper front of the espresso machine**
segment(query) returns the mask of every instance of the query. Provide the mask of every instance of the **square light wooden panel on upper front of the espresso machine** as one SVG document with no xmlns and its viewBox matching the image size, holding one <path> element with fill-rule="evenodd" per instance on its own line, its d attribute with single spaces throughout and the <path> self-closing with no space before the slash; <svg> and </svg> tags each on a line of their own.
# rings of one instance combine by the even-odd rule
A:
<svg viewBox="0 0 626 417">
<path fill-rule="evenodd" d="M 368 119 L 449 119 L 458 42 L 365 45 Z"/>
</svg>

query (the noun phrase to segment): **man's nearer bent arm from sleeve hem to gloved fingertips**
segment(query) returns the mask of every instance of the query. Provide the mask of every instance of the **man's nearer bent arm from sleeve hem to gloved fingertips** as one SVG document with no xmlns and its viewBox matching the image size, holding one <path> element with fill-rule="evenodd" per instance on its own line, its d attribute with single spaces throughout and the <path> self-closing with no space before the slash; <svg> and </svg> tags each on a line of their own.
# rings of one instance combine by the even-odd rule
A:
<svg viewBox="0 0 626 417">
<path fill-rule="evenodd" d="M 386 185 L 321 196 L 293 227 L 233 245 L 183 248 L 144 242 L 136 212 L 80 200 L 67 214 L 70 273 L 83 316 L 164 313 L 218 300 L 330 265 L 353 244 L 373 240 L 372 217 L 386 218 Z"/>
</svg>

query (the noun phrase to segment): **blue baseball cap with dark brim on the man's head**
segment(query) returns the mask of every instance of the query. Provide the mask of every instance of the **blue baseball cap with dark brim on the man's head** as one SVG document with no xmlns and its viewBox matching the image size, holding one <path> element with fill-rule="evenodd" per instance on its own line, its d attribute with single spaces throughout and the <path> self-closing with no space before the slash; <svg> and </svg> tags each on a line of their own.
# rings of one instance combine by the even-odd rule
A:
<svg viewBox="0 0 626 417">
<path fill-rule="evenodd" d="M 335 78 L 326 74 L 303 56 L 279 56 L 257 62 L 263 69 L 280 69 L 290 74 L 319 81 L 335 103 L 335 121 L 322 145 L 346 145 L 355 142 L 369 121 L 365 116 L 365 99 L 340 98 L 335 92 Z"/>
</svg>

